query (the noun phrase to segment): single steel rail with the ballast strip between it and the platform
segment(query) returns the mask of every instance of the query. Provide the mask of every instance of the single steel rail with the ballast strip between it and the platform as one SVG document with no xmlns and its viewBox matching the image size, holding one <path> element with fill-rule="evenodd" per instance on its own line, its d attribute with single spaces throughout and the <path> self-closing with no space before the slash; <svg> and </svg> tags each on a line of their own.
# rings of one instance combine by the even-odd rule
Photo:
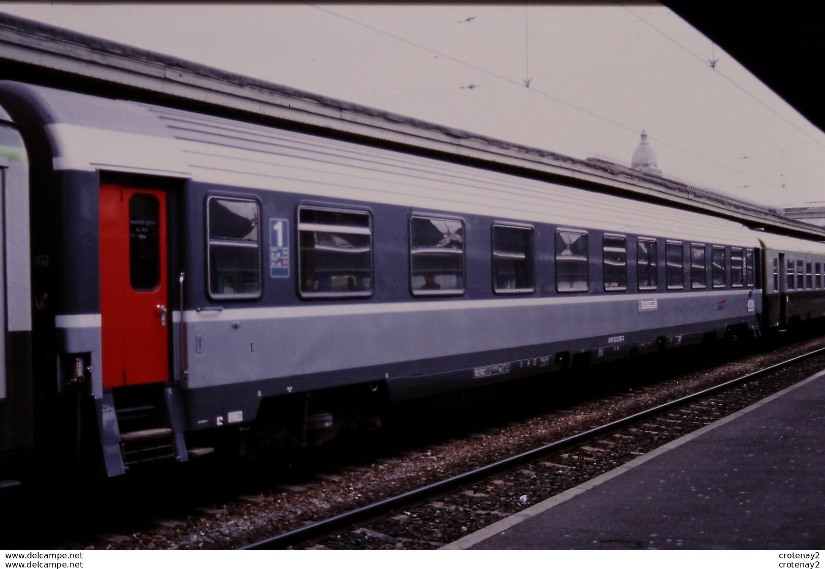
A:
<svg viewBox="0 0 825 569">
<path fill-rule="evenodd" d="M 813 368 L 799 365 L 811 361 Z M 825 348 L 815 349 L 243 548 L 441 548 L 798 382 L 822 363 Z"/>
</svg>

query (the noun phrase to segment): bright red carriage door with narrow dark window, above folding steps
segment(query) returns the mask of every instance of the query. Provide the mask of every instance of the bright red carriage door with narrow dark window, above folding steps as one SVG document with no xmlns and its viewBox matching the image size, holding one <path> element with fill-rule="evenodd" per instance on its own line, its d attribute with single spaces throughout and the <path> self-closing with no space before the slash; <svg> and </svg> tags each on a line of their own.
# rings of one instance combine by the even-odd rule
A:
<svg viewBox="0 0 825 569">
<path fill-rule="evenodd" d="M 101 184 L 103 386 L 166 382 L 166 194 Z"/>
</svg>

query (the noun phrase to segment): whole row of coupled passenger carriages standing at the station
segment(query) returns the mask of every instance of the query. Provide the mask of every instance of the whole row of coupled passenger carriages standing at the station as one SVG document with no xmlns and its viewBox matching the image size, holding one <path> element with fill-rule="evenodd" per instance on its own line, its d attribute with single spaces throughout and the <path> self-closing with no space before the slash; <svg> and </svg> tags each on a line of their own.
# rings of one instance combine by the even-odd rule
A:
<svg viewBox="0 0 825 569">
<path fill-rule="evenodd" d="M 10 81 L 0 136 L 0 451 L 109 476 L 825 314 L 821 244 L 493 166 Z"/>
</svg>

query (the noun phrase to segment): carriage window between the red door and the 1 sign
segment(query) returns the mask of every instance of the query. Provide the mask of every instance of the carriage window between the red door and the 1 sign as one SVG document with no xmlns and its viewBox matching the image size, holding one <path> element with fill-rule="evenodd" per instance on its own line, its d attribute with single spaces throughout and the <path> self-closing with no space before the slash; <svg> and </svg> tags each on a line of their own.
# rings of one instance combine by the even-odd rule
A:
<svg viewBox="0 0 825 569">
<path fill-rule="evenodd" d="M 209 290 L 213 297 L 261 294 L 260 215 L 254 200 L 210 197 L 207 202 Z"/>
</svg>

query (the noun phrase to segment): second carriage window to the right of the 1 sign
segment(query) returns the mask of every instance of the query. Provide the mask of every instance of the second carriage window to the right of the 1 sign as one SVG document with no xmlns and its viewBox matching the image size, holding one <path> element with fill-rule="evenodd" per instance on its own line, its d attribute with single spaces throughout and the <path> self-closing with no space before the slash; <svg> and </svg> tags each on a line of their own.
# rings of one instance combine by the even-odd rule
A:
<svg viewBox="0 0 825 569">
<path fill-rule="evenodd" d="M 410 218 L 410 288 L 415 295 L 464 292 L 464 222 Z"/>
</svg>

